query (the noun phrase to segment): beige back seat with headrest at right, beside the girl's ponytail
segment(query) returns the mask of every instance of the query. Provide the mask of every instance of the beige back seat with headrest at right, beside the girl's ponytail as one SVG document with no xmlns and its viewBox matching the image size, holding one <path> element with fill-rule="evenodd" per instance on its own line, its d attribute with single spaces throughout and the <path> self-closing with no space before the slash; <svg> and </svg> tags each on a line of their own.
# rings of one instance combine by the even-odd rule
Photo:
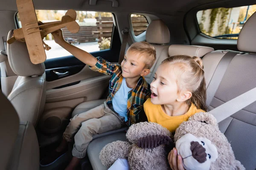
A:
<svg viewBox="0 0 256 170">
<path fill-rule="evenodd" d="M 245 53 L 237 53 L 227 70 L 212 99 L 209 110 L 218 107 L 236 96 L 256 87 L 256 13 L 245 23 L 238 37 L 237 48 Z M 203 58 L 207 86 L 211 83 L 215 69 L 221 58 L 228 51 L 213 51 Z M 231 51 L 232 52 L 232 51 Z M 208 86 L 209 87 L 209 86 Z M 209 88 L 207 93 L 209 94 Z M 256 95 L 256 94 L 255 94 Z M 241 161 L 246 170 L 256 169 L 256 102 L 233 114 L 219 123 L 233 148 L 236 159 Z"/>
</svg>

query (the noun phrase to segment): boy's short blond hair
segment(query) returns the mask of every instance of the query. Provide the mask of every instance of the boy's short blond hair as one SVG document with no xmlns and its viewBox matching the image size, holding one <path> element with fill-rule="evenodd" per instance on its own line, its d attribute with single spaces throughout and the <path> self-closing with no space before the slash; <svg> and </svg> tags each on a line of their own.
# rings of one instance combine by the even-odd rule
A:
<svg viewBox="0 0 256 170">
<path fill-rule="evenodd" d="M 135 42 L 127 51 L 134 51 L 141 54 L 144 58 L 145 68 L 150 69 L 156 60 L 156 50 L 148 42 Z"/>
</svg>

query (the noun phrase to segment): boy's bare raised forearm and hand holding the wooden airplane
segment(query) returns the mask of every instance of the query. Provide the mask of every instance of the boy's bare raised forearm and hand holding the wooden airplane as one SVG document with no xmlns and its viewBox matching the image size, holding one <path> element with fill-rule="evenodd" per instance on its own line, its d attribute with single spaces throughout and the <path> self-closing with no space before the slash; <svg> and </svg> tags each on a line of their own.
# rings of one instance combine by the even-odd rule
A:
<svg viewBox="0 0 256 170">
<path fill-rule="evenodd" d="M 53 32 L 52 35 L 54 37 L 55 42 L 58 45 L 61 45 L 62 48 L 65 48 L 68 52 L 70 52 L 73 56 L 75 56 L 81 62 L 84 62 L 86 65 L 89 65 L 91 67 L 96 65 L 98 59 L 96 59 L 91 54 L 87 53 L 86 51 L 83 51 L 80 48 L 77 48 L 76 46 L 71 45 L 70 43 L 66 42 L 63 39 L 61 30 Z"/>
</svg>

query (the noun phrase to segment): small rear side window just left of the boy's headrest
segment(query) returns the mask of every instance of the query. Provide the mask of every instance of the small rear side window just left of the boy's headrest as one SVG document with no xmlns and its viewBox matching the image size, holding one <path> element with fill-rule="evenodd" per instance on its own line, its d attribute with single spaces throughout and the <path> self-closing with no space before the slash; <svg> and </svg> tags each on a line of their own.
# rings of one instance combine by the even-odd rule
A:
<svg viewBox="0 0 256 170">
<path fill-rule="evenodd" d="M 148 27 L 148 20 L 143 15 L 131 14 L 131 23 L 135 36 L 146 31 Z"/>
</svg>

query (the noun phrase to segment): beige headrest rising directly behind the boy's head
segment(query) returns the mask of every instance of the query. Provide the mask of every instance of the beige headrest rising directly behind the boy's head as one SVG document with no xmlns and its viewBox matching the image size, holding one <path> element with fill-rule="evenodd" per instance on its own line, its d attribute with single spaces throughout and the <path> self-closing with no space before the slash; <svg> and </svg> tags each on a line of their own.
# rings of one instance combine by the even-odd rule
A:
<svg viewBox="0 0 256 170">
<path fill-rule="evenodd" d="M 152 44 L 166 44 L 170 42 L 169 28 L 162 20 L 153 20 L 146 31 L 146 41 Z"/>
</svg>

